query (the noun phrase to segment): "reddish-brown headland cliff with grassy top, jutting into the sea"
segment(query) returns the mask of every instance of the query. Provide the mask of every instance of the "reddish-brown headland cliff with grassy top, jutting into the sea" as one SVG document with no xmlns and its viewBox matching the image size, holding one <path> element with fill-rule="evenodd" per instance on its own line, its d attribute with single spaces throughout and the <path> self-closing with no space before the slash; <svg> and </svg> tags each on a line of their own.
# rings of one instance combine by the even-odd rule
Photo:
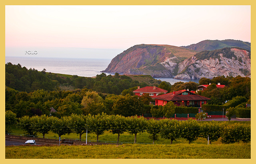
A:
<svg viewBox="0 0 256 164">
<path fill-rule="evenodd" d="M 102 72 L 174 77 L 178 63 L 196 51 L 170 45 L 135 45 L 117 55 Z"/>
</svg>

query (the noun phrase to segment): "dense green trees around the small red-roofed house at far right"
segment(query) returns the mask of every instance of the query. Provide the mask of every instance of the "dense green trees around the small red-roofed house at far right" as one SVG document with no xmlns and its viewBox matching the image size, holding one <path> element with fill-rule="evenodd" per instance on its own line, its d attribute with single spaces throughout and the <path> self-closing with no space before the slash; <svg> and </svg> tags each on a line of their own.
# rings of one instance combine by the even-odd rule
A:
<svg viewBox="0 0 256 164">
<path fill-rule="evenodd" d="M 229 107 L 236 107 L 237 105 L 240 105 L 239 107 L 246 107 L 246 103 L 251 103 L 251 78 L 249 77 L 218 76 L 213 79 L 201 78 L 199 80 L 199 85 L 209 83 L 211 83 L 211 85 L 209 85 L 204 91 L 198 91 L 200 96 L 211 99 L 207 102 L 209 104 L 226 106 L 232 104 Z M 218 83 L 225 85 L 225 87 L 218 89 L 216 87 L 216 84 Z"/>
</svg>

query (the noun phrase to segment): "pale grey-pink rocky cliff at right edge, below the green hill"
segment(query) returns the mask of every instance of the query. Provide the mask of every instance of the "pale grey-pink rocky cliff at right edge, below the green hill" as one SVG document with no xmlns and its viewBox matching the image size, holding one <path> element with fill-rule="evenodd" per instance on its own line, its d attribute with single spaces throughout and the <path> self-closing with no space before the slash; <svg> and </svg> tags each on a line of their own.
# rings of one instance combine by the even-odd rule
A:
<svg viewBox="0 0 256 164">
<path fill-rule="evenodd" d="M 225 48 L 220 51 L 205 52 L 206 59 L 202 59 L 203 54 L 196 54 L 186 59 L 178 65 L 178 75 L 175 79 L 200 79 L 213 78 L 214 76 L 248 76 L 251 74 L 250 52 L 245 49 Z M 208 55 L 208 56 L 207 56 Z"/>
</svg>

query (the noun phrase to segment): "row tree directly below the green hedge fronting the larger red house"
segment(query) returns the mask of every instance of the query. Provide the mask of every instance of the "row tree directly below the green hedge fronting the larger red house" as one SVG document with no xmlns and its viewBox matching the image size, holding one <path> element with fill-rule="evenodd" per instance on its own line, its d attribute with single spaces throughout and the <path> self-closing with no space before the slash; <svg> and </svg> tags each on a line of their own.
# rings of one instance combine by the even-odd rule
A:
<svg viewBox="0 0 256 164">
<path fill-rule="evenodd" d="M 181 137 L 186 139 L 189 144 L 192 141 L 196 141 L 200 136 L 200 125 L 196 120 L 180 121 L 180 125 L 182 129 Z"/>
</svg>

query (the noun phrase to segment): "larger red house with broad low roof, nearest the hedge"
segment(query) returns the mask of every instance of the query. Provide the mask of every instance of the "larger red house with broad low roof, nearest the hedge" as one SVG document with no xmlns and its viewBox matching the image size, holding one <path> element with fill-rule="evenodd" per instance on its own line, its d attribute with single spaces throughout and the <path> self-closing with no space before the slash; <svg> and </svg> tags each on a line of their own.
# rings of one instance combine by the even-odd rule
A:
<svg viewBox="0 0 256 164">
<path fill-rule="evenodd" d="M 176 105 L 182 104 L 198 108 L 202 107 L 202 104 L 207 103 L 207 100 L 211 100 L 209 98 L 194 94 L 188 90 L 179 90 L 169 94 L 154 96 L 153 99 L 156 100 L 156 105 L 165 105 L 168 102 L 174 102 Z"/>
</svg>

